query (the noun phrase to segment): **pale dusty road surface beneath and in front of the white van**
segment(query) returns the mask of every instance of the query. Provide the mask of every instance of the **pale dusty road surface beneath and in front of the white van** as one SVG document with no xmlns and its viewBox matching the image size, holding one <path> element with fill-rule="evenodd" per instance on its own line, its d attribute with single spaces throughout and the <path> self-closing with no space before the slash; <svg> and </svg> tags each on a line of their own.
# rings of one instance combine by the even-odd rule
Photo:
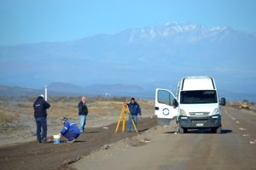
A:
<svg viewBox="0 0 256 170">
<path fill-rule="evenodd" d="M 256 113 L 223 107 L 221 134 L 206 130 L 175 133 L 171 128 L 154 127 L 145 132 L 148 144 L 118 146 L 105 155 L 86 157 L 73 164 L 76 169 L 157 169 L 157 170 L 253 170 L 256 169 Z M 119 150 L 124 150 L 120 152 Z"/>
</svg>

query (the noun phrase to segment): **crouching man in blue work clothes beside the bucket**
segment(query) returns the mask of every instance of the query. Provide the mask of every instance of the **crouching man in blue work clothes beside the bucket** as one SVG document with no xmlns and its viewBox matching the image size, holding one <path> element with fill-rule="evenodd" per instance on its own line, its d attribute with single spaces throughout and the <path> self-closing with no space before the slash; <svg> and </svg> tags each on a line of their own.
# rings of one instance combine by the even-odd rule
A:
<svg viewBox="0 0 256 170">
<path fill-rule="evenodd" d="M 64 125 L 61 134 L 67 139 L 67 143 L 75 142 L 80 135 L 79 127 L 74 122 L 69 121 L 67 117 L 63 117 L 61 121 Z"/>
</svg>

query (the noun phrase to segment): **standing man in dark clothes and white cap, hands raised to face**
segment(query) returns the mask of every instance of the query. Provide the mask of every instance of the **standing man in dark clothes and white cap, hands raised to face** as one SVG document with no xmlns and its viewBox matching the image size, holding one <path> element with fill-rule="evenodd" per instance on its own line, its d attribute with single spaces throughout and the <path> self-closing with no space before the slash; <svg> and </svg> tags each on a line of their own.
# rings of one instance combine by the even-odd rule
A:
<svg viewBox="0 0 256 170">
<path fill-rule="evenodd" d="M 44 100 L 44 95 L 41 94 L 38 99 L 34 102 L 34 117 L 37 123 L 37 136 L 38 142 L 44 143 L 46 142 L 47 136 L 47 112 L 46 110 L 49 109 L 50 105 L 47 101 Z M 43 129 L 43 134 L 41 136 L 41 128 Z"/>
</svg>

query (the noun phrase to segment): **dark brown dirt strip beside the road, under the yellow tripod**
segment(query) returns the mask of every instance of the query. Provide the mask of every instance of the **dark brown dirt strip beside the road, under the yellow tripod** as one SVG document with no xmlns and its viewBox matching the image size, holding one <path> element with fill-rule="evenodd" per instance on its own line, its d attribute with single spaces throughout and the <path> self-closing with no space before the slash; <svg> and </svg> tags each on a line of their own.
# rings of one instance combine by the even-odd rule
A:
<svg viewBox="0 0 256 170">
<path fill-rule="evenodd" d="M 139 133 L 155 125 L 155 118 L 143 118 L 138 122 Z M 29 142 L 2 147 L 0 148 L 0 167 L 7 170 L 69 169 L 71 168 L 69 164 L 90 155 L 93 150 L 99 150 L 102 147 L 108 149 L 108 144 L 137 135 L 136 133 L 114 133 L 115 127 L 116 123 L 108 128 L 89 128 L 86 133 L 81 134 L 79 141 L 73 144 Z"/>
</svg>

